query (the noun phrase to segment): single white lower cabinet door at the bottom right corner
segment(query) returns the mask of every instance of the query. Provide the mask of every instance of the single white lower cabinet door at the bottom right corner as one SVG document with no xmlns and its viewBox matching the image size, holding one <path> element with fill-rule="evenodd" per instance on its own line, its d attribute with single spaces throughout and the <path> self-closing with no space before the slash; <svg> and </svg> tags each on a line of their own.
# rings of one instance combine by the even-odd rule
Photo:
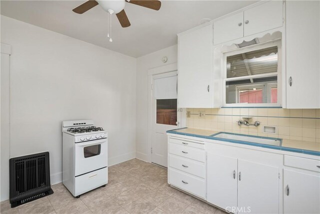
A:
<svg viewBox="0 0 320 214">
<path fill-rule="evenodd" d="M 283 212 L 320 213 L 320 176 L 284 169 Z"/>
</svg>

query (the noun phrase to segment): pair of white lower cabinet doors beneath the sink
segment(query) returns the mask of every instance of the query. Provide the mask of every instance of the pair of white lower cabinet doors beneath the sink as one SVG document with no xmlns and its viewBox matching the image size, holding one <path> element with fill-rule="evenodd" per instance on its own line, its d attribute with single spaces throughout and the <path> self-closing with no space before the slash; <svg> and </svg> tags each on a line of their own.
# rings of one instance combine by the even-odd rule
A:
<svg viewBox="0 0 320 214">
<path fill-rule="evenodd" d="M 278 213 L 278 167 L 207 153 L 207 201 L 233 213 Z"/>
</svg>

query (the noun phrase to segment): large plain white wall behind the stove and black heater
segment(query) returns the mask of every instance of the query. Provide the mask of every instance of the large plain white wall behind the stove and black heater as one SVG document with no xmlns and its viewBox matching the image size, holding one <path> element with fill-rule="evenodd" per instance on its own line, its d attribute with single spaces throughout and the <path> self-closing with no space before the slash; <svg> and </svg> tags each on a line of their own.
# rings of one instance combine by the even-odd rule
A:
<svg viewBox="0 0 320 214">
<path fill-rule="evenodd" d="M 108 131 L 109 165 L 135 157 L 136 59 L 3 16 L 1 43 L 11 45 L 10 157 L 49 151 L 59 182 L 61 121 L 77 119 Z"/>
</svg>

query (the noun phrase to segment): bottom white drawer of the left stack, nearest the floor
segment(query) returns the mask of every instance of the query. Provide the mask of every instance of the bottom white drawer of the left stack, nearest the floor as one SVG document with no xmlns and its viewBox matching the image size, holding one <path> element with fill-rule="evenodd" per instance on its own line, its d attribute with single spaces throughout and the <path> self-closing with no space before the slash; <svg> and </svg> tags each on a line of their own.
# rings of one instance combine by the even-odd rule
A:
<svg viewBox="0 0 320 214">
<path fill-rule="evenodd" d="M 204 179 L 169 168 L 169 183 L 204 198 Z"/>
</svg>

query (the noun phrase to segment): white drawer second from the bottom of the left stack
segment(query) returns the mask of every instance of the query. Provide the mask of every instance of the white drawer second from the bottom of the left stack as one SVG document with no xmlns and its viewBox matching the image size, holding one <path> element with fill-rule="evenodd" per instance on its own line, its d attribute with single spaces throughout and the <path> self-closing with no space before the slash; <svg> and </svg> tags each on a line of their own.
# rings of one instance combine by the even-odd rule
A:
<svg viewBox="0 0 320 214">
<path fill-rule="evenodd" d="M 193 160 L 169 155 L 169 167 L 179 169 L 181 171 L 204 178 L 204 164 L 197 163 Z"/>
</svg>

